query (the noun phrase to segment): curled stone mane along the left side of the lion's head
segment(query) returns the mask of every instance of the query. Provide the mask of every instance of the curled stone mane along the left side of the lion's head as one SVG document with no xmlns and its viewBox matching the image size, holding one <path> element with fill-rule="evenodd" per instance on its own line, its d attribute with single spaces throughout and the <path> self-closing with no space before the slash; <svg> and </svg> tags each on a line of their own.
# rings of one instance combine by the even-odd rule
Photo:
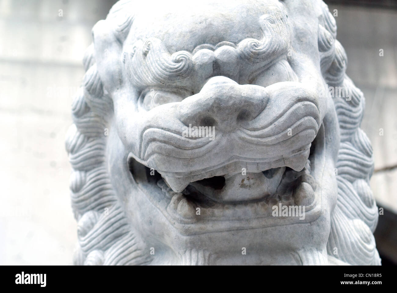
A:
<svg viewBox="0 0 397 293">
<path fill-rule="evenodd" d="M 108 18 L 118 17 L 127 4 L 115 4 Z M 126 15 L 122 20 L 114 29 L 119 41 L 125 39 L 132 21 Z M 113 102 L 102 87 L 93 46 L 87 48 L 83 59 L 86 73 L 72 104 L 74 124 L 66 134 L 66 150 L 73 168 L 71 204 L 78 236 L 73 264 L 146 264 L 150 260 L 143 253 L 142 241 L 127 222 L 106 168 L 105 131 Z"/>
</svg>

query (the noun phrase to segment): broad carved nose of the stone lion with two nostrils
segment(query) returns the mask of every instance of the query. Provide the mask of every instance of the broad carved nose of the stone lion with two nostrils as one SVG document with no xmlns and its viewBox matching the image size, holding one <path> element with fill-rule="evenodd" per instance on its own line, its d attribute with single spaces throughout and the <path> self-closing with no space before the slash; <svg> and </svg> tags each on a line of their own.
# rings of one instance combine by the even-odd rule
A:
<svg viewBox="0 0 397 293">
<path fill-rule="evenodd" d="M 200 93 L 179 103 L 185 125 L 214 126 L 231 132 L 241 123 L 258 116 L 266 107 L 268 94 L 258 85 L 239 85 L 232 79 L 216 76 L 208 79 Z"/>
</svg>

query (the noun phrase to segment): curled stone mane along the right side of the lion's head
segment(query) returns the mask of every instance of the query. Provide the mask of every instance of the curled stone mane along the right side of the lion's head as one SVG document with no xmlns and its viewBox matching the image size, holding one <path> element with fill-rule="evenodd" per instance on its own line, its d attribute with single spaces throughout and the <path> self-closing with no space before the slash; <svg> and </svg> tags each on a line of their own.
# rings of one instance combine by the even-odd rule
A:
<svg viewBox="0 0 397 293">
<path fill-rule="evenodd" d="M 372 234 L 378 223 L 378 207 L 369 185 L 374 160 L 371 143 L 359 128 L 365 99 L 345 73 L 347 56 L 336 40 L 335 19 L 328 6 L 321 4 L 318 48 L 324 80 L 330 87 L 351 91 L 351 99 L 338 96 L 336 91 L 333 96 L 341 142 L 336 164 L 338 197 L 331 213 L 327 252 L 348 264 L 379 265 L 380 257 Z"/>
</svg>

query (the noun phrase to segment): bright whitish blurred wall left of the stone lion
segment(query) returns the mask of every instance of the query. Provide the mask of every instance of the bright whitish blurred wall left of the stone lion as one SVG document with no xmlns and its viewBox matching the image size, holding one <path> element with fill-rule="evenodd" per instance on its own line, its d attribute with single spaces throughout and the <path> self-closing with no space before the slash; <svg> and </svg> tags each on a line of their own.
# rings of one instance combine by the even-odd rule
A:
<svg viewBox="0 0 397 293">
<path fill-rule="evenodd" d="M 0 1 L 0 264 L 71 264 L 64 137 L 91 28 L 113 1 Z"/>
</svg>

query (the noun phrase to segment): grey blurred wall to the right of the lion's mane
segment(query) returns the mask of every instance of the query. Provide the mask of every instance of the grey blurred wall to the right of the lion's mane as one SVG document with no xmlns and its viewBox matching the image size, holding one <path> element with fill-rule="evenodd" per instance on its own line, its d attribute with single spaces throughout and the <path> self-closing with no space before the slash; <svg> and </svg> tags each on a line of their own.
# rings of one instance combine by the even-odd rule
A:
<svg viewBox="0 0 397 293">
<path fill-rule="evenodd" d="M 347 73 L 366 98 L 361 127 L 374 148 L 375 173 L 371 188 L 380 206 L 396 211 L 395 170 L 378 173 L 378 170 L 397 166 L 396 12 L 333 4 L 329 7 L 330 11 L 338 11 L 335 17 L 338 39 L 349 57 Z M 379 56 L 380 49 L 384 51 L 383 56 Z"/>
</svg>

